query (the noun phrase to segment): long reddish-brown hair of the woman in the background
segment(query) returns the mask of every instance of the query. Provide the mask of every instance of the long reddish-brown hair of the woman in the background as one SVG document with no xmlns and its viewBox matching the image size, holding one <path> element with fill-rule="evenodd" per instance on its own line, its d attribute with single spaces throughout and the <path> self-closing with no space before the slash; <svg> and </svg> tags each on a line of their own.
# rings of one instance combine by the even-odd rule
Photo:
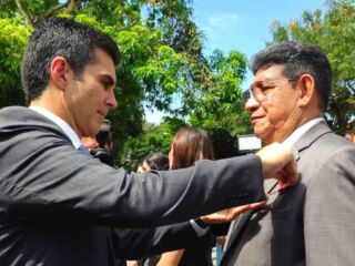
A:
<svg viewBox="0 0 355 266">
<path fill-rule="evenodd" d="M 211 139 L 204 131 L 194 127 L 179 130 L 172 149 L 172 170 L 189 167 L 201 158 L 214 158 Z"/>
</svg>

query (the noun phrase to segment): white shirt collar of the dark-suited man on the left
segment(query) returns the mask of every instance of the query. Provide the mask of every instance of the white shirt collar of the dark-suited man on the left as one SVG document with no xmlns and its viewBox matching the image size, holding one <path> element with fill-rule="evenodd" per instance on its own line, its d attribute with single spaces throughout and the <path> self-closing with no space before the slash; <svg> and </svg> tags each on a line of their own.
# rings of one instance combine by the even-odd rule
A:
<svg viewBox="0 0 355 266">
<path fill-rule="evenodd" d="M 30 109 L 38 112 L 39 114 L 42 114 L 43 116 L 52 121 L 54 124 L 57 124 L 70 139 L 75 149 L 78 149 L 81 145 L 78 134 L 64 120 L 48 111 L 47 109 L 40 106 L 30 106 Z"/>
</svg>

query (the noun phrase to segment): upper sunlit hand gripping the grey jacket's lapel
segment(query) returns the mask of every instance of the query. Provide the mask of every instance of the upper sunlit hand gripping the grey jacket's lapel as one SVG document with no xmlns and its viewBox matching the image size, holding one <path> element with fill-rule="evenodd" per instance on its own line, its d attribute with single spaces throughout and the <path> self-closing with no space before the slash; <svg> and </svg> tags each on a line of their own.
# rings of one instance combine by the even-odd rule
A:
<svg viewBox="0 0 355 266">
<path fill-rule="evenodd" d="M 296 184 L 297 164 L 292 150 L 273 143 L 256 153 L 262 160 L 264 178 L 276 178 L 281 190 Z"/>
</svg>

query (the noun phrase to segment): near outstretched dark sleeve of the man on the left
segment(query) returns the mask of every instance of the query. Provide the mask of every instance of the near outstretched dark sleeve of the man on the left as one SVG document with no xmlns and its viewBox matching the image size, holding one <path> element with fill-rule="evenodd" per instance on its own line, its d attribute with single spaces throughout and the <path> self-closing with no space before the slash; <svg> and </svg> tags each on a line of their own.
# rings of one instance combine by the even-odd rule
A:
<svg viewBox="0 0 355 266">
<path fill-rule="evenodd" d="M 24 132 L 1 150 L 0 211 L 16 221 L 151 227 L 265 197 L 256 155 L 135 174 L 79 153 L 58 132 Z"/>
</svg>

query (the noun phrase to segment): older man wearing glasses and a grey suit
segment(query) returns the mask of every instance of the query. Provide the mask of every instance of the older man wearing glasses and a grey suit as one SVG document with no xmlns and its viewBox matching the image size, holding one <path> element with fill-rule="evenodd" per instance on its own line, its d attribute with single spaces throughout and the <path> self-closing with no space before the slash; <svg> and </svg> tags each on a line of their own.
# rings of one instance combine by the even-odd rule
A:
<svg viewBox="0 0 355 266">
<path fill-rule="evenodd" d="M 264 144 L 295 149 L 300 182 L 278 191 L 265 182 L 268 203 L 233 223 L 223 266 L 354 265 L 355 146 L 323 119 L 332 70 L 323 51 L 298 42 L 256 53 L 250 112 Z"/>
</svg>

